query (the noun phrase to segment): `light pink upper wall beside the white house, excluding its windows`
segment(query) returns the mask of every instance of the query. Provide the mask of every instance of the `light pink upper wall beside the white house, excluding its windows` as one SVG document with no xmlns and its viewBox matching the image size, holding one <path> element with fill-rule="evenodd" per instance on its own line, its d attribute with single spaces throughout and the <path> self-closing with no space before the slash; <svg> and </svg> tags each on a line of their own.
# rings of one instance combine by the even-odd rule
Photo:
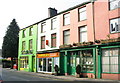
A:
<svg viewBox="0 0 120 83">
<path fill-rule="evenodd" d="M 78 8 L 68 11 L 70 13 L 70 24 L 63 26 L 63 14 L 60 15 L 60 45 L 63 45 L 63 31 L 70 30 L 70 44 L 79 42 L 79 27 L 87 25 L 88 41 L 94 41 L 92 4 L 86 4 L 87 20 L 78 21 Z"/>
</svg>

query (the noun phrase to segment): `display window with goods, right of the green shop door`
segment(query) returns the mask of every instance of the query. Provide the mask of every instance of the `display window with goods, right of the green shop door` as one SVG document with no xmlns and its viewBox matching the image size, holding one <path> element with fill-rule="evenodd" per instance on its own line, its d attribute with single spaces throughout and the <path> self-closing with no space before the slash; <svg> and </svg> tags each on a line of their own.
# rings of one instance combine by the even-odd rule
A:
<svg viewBox="0 0 120 83">
<path fill-rule="evenodd" d="M 82 71 L 93 72 L 93 50 L 80 51 Z"/>
</svg>

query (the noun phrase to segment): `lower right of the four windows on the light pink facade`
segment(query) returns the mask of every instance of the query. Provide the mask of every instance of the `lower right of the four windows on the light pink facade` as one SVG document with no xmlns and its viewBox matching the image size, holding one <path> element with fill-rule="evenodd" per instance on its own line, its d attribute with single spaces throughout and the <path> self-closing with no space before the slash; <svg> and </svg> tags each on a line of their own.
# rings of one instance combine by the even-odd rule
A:
<svg viewBox="0 0 120 83">
<path fill-rule="evenodd" d="M 79 37 L 79 42 L 87 42 L 87 26 L 80 27 Z"/>
</svg>

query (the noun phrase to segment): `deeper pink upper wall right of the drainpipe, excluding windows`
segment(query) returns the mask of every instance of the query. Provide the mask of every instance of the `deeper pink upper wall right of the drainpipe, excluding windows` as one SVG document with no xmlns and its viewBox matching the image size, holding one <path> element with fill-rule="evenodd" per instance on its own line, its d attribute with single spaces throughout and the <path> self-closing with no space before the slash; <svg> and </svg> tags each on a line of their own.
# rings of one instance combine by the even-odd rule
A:
<svg viewBox="0 0 120 83">
<path fill-rule="evenodd" d="M 109 10 L 108 0 L 97 0 L 94 3 L 95 37 L 97 40 L 106 39 L 110 34 L 111 38 L 120 37 L 120 33 L 110 33 L 110 19 L 120 17 L 120 8 Z"/>
</svg>

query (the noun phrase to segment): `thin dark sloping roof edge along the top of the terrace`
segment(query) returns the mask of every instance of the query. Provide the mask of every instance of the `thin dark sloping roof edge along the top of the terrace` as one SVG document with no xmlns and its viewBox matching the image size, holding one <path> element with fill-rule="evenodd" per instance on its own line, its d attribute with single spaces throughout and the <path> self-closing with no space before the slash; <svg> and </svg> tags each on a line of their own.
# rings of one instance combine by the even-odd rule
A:
<svg viewBox="0 0 120 83">
<path fill-rule="evenodd" d="M 60 15 L 60 14 L 63 14 L 63 13 L 68 12 L 68 11 L 70 11 L 70 10 L 73 10 L 73 9 L 75 9 L 75 8 L 81 7 L 81 6 L 83 6 L 83 5 L 85 5 L 85 4 L 88 4 L 88 3 L 91 3 L 91 0 L 86 1 L 86 2 L 83 2 L 83 3 L 81 3 L 81 4 L 78 4 L 78 5 L 74 6 L 74 7 L 68 8 L 67 10 L 64 10 L 64 11 L 62 11 L 62 12 L 59 12 L 59 13 L 56 14 L 55 16 Z M 23 29 L 26 29 L 26 28 L 29 28 L 30 26 L 39 24 L 39 23 L 41 23 L 41 22 L 43 22 L 43 21 L 45 21 L 45 20 L 48 20 L 48 19 L 50 19 L 50 18 L 53 18 L 53 17 L 55 17 L 55 16 L 45 18 L 45 19 L 43 19 L 43 20 L 41 20 L 41 21 L 39 21 L 39 22 L 36 22 L 36 23 L 34 23 L 34 24 L 31 24 L 31 25 L 29 25 L 29 26 L 27 26 L 27 27 L 25 27 L 25 28 L 23 28 Z M 23 30 L 23 29 L 20 29 L 20 31 Z"/>
</svg>

